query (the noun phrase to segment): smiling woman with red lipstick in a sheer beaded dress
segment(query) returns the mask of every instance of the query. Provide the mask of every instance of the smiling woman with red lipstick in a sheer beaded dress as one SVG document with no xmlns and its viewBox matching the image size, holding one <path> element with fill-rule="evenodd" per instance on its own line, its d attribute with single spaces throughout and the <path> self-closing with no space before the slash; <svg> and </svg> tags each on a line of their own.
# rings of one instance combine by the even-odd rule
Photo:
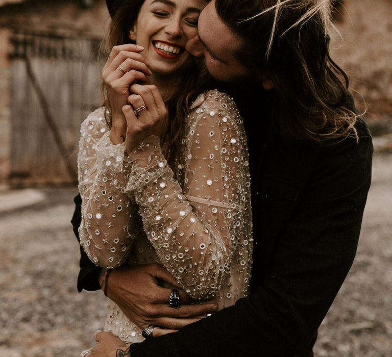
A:
<svg viewBox="0 0 392 357">
<path fill-rule="evenodd" d="M 180 328 L 173 320 L 185 326 L 248 293 L 253 239 L 242 118 L 230 97 L 206 91 L 210 77 L 185 49 L 206 3 L 118 2 L 102 72 L 106 105 L 81 127 L 80 242 L 104 268 L 112 299 L 105 330 L 126 343 L 173 332 Z M 106 269 L 125 263 L 166 269 L 158 323 L 166 329 L 149 325 L 140 310 L 123 313 L 124 296 L 106 285 Z M 213 304 L 168 317 L 194 299 Z"/>
</svg>

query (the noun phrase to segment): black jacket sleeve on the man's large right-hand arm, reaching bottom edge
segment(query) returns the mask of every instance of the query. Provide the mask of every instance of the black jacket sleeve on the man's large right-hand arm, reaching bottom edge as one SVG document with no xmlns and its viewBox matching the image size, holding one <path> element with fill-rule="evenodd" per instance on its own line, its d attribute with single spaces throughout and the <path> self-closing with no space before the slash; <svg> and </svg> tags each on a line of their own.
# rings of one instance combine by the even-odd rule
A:
<svg viewBox="0 0 392 357">
<path fill-rule="evenodd" d="M 265 224 L 267 233 L 273 231 L 268 224 L 281 227 L 277 237 L 255 236 L 254 265 L 267 259 L 262 253 L 264 242 L 269 260 L 261 265 L 265 272 L 249 298 L 176 334 L 134 344 L 131 355 L 304 355 L 354 260 L 372 153 L 366 131 L 360 133 L 358 143 L 349 138 L 318 150 L 313 162 L 309 160 L 309 175 L 298 183 L 289 215 L 280 222 L 274 221 L 274 215 L 282 216 L 283 197 L 264 195 L 253 213 L 254 222 Z M 291 166 L 301 167 L 295 162 Z M 256 234 L 261 235 L 261 230 Z M 269 239 L 274 243 L 267 243 Z"/>
</svg>

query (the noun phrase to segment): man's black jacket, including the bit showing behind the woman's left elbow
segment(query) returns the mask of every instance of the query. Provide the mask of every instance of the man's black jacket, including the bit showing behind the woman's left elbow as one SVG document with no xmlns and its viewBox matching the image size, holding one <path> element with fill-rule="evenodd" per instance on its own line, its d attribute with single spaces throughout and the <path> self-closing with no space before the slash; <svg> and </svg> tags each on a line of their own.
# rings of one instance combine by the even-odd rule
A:
<svg viewBox="0 0 392 357">
<path fill-rule="evenodd" d="M 132 357 L 312 355 L 317 328 L 355 256 L 372 138 L 358 119 L 358 143 L 285 145 L 243 116 L 255 243 L 251 295 L 176 334 L 132 345 Z M 80 197 L 75 201 L 77 234 Z M 97 268 L 82 250 L 80 266 L 78 290 L 99 289 Z"/>
</svg>

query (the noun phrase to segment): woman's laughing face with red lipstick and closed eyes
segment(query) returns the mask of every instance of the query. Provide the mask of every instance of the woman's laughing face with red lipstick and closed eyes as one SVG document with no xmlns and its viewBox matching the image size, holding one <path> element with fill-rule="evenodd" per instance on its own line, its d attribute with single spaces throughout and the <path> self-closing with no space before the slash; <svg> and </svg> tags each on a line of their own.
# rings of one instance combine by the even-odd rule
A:
<svg viewBox="0 0 392 357">
<path fill-rule="evenodd" d="M 181 71 L 190 60 L 186 42 L 198 34 L 205 0 L 145 0 L 129 37 L 143 46 L 154 74 Z"/>
</svg>

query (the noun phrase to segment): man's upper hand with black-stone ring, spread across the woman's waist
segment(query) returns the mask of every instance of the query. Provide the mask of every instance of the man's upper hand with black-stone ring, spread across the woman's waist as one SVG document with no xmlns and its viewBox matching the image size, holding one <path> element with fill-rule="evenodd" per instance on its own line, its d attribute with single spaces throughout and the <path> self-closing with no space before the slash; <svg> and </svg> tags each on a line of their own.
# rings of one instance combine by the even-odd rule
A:
<svg viewBox="0 0 392 357">
<path fill-rule="evenodd" d="M 179 308 L 169 306 L 171 290 L 158 286 L 158 280 L 179 289 Z M 176 279 L 158 264 L 123 265 L 111 271 L 106 284 L 108 297 L 141 329 L 147 325 L 158 325 L 178 330 L 217 310 L 216 304 L 194 303 L 195 300 L 181 290 Z M 165 333 L 168 331 L 155 328 L 153 336 Z"/>
</svg>

